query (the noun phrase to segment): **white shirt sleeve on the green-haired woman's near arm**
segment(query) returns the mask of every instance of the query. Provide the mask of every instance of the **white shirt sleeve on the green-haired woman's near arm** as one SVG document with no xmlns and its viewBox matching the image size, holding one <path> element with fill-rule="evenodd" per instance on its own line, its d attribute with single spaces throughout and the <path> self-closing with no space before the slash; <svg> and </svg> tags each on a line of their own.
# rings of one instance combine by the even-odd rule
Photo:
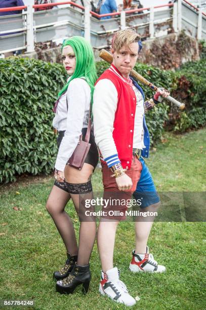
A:
<svg viewBox="0 0 206 310">
<path fill-rule="evenodd" d="M 89 85 L 83 79 L 74 79 L 69 83 L 67 90 L 67 127 L 55 163 L 55 168 L 59 171 L 64 171 L 66 163 L 79 141 L 81 129 L 83 128 L 85 108 L 89 99 L 87 99 L 88 87 Z"/>
</svg>

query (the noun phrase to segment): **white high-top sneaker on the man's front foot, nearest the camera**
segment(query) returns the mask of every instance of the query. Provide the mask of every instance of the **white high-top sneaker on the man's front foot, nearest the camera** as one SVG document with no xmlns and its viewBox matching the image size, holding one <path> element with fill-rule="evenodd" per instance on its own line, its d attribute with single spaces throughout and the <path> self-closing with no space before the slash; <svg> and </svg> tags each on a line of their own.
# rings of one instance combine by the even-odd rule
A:
<svg viewBox="0 0 206 310">
<path fill-rule="evenodd" d="M 117 267 L 109 269 L 106 274 L 101 270 L 99 292 L 127 306 L 132 306 L 136 303 L 135 298 L 128 293 L 126 285 L 119 280 Z"/>
</svg>

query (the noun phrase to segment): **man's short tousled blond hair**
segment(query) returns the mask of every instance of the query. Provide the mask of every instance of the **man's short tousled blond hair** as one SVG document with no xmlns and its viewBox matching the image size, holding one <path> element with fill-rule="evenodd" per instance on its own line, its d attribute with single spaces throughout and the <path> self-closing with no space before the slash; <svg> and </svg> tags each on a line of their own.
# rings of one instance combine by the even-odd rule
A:
<svg viewBox="0 0 206 310">
<path fill-rule="evenodd" d="M 131 43 L 138 42 L 140 35 L 133 29 L 117 31 L 111 42 L 111 46 L 115 51 L 119 51 L 123 45 L 129 46 Z"/>
</svg>

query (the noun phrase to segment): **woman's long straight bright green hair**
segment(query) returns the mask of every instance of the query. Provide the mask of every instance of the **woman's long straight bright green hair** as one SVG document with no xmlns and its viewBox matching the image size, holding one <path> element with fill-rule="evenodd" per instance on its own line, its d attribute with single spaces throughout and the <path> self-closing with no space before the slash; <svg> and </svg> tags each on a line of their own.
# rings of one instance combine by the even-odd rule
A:
<svg viewBox="0 0 206 310">
<path fill-rule="evenodd" d="M 91 88 L 91 102 L 93 102 L 94 84 L 97 80 L 97 72 L 92 46 L 82 36 L 72 36 L 69 39 L 64 40 L 61 51 L 67 45 L 70 45 L 74 51 L 76 66 L 71 78 L 58 93 L 58 98 L 67 90 L 69 83 L 73 79 L 85 76 L 85 79 Z"/>
</svg>

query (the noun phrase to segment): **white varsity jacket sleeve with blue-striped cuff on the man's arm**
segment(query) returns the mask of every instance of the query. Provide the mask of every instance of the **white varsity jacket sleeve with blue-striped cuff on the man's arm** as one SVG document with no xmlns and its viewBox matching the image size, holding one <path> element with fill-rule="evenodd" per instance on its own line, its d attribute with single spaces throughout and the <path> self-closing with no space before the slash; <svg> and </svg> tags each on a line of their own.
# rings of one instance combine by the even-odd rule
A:
<svg viewBox="0 0 206 310">
<path fill-rule="evenodd" d="M 108 167 L 120 163 L 112 136 L 117 101 L 118 94 L 114 84 L 108 79 L 100 80 L 95 86 L 93 97 L 94 135 Z"/>
</svg>

